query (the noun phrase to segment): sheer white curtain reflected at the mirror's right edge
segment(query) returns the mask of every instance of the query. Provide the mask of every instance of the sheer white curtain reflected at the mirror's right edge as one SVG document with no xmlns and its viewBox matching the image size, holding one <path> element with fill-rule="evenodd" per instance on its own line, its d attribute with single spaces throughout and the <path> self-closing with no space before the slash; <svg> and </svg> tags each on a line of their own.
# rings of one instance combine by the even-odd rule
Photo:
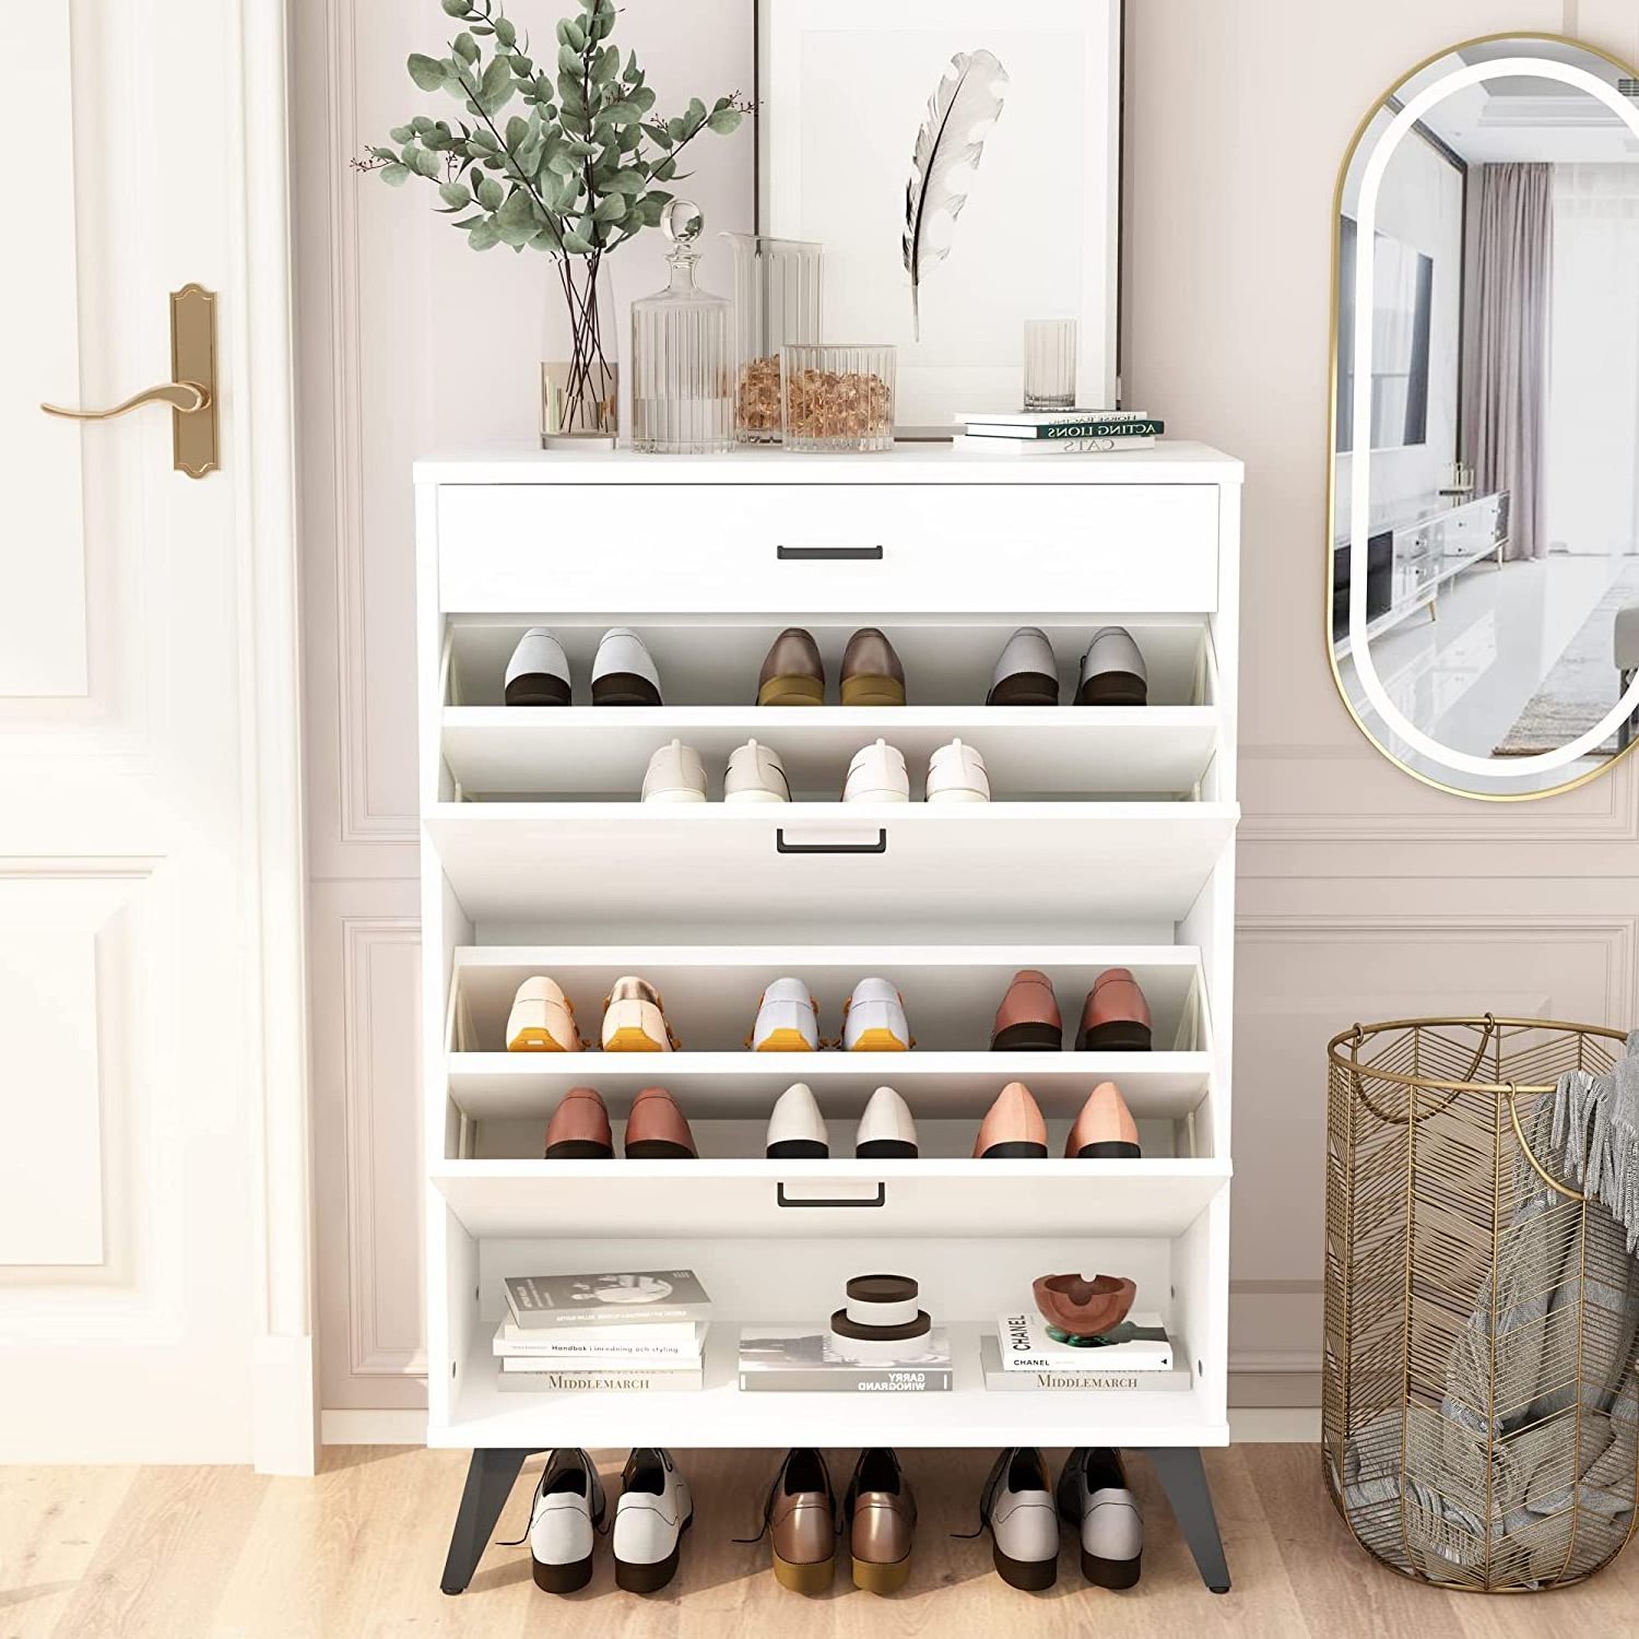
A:
<svg viewBox="0 0 1639 1639">
<path fill-rule="evenodd" d="M 1547 539 L 1639 552 L 1639 164 L 1554 167 Z"/>
</svg>

